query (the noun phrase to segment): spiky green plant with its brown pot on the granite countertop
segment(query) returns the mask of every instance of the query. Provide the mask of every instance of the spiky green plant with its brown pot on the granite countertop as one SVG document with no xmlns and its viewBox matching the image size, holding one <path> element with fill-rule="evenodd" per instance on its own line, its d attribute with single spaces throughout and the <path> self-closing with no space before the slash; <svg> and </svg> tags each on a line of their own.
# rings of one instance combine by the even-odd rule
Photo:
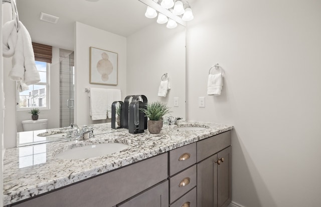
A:
<svg viewBox="0 0 321 207">
<path fill-rule="evenodd" d="M 159 101 L 147 103 L 146 108 L 141 108 L 140 110 L 145 113 L 148 117 L 147 128 L 151 134 L 158 134 L 161 132 L 163 127 L 163 116 L 170 113 L 170 108 L 166 103 L 161 103 Z"/>
</svg>

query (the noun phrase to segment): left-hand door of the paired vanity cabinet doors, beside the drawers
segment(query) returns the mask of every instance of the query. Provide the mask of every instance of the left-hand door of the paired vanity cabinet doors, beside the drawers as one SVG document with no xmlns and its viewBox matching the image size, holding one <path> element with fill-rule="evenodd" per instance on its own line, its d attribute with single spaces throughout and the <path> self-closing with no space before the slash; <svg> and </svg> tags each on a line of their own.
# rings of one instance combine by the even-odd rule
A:
<svg viewBox="0 0 321 207">
<path fill-rule="evenodd" d="M 197 206 L 217 206 L 217 154 L 197 164 Z"/>
</svg>

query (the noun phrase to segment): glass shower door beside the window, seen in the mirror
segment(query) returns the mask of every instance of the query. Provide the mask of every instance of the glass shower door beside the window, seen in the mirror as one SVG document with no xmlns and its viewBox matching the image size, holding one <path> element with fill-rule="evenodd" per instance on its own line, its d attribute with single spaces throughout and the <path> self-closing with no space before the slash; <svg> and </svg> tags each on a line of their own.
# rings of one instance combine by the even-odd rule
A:
<svg viewBox="0 0 321 207">
<path fill-rule="evenodd" d="M 60 49 L 60 127 L 74 122 L 74 52 Z"/>
</svg>

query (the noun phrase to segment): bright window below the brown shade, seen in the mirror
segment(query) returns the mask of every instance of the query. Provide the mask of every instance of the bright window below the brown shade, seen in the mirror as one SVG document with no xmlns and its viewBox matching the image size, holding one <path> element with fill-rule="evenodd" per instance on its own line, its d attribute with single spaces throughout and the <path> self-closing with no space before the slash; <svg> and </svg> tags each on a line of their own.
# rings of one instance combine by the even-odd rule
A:
<svg viewBox="0 0 321 207">
<path fill-rule="evenodd" d="M 49 109 L 49 74 L 50 64 L 36 61 L 41 81 L 37 84 L 30 85 L 29 90 L 19 93 L 19 108 L 44 108 Z"/>
</svg>

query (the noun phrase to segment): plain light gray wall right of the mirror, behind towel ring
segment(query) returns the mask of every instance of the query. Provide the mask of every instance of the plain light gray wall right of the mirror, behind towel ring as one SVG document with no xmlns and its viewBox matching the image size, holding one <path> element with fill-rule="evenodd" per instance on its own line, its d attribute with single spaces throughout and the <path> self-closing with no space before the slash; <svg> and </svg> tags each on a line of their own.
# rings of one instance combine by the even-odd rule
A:
<svg viewBox="0 0 321 207">
<path fill-rule="evenodd" d="M 198 0 L 192 9 L 188 118 L 235 126 L 232 200 L 319 206 L 321 2 Z M 217 97 L 206 95 L 215 63 L 225 71 Z"/>
</svg>

